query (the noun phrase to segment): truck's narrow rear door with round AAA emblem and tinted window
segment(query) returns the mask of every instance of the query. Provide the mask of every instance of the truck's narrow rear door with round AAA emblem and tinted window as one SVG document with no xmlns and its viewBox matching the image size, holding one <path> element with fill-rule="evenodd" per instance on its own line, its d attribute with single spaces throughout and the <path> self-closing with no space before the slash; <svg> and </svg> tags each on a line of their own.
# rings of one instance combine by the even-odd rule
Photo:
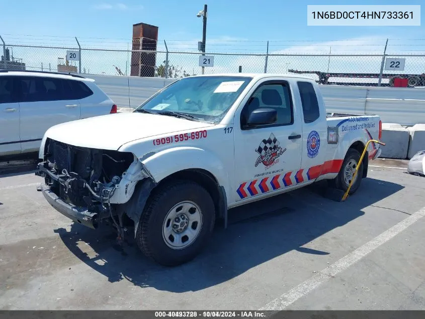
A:
<svg viewBox="0 0 425 319">
<path fill-rule="evenodd" d="M 310 181 L 317 178 L 322 170 L 326 156 L 327 126 L 324 107 L 319 107 L 317 93 L 313 84 L 297 81 L 294 89 L 299 92 L 302 105 L 302 161 L 301 169 Z M 329 164 L 329 163 L 328 163 Z"/>
</svg>

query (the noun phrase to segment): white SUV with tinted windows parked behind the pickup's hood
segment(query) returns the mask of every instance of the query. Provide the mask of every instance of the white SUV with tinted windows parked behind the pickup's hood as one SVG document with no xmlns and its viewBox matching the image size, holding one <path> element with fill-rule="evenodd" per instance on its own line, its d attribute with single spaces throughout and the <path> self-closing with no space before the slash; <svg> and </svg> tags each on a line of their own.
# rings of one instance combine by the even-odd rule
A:
<svg viewBox="0 0 425 319">
<path fill-rule="evenodd" d="M 53 125 L 116 112 L 92 79 L 0 70 L 0 156 L 38 151 Z"/>
</svg>

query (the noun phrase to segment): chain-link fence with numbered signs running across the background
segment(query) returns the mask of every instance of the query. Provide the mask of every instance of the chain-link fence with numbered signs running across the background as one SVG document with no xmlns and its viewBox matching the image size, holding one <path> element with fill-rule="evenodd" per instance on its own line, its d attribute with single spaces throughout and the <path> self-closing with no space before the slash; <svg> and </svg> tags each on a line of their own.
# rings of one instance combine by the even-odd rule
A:
<svg viewBox="0 0 425 319">
<path fill-rule="evenodd" d="M 67 59 L 67 51 L 78 52 L 79 59 Z M 201 54 L 4 43 L 0 69 L 181 78 L 202 74 Z M 205 74 L 288 73 L 320 84 L 425 86 L 425 54 L 204 54 L 214 57 L 211 66 L 204 68 Z"/>
</svg>

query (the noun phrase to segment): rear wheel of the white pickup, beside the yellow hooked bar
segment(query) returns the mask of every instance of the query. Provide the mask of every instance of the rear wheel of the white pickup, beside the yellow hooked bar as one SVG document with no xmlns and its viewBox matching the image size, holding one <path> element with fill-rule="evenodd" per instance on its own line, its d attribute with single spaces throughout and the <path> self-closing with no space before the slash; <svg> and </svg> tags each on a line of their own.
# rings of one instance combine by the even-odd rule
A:
<svg viewBox="0 0 425 319">
<path fill-rule="evenodd" d="M 334 179 L 329 181 L 330 185 L 346 192 L 348 186 L 354 178 L 349 194 L 351 195 L 356 193 L 356 190 L 359 188 L 360 183 L 362 182 L 364 169 L 363 163 L 360 163 L 360 167 L 357 171 L 357 174 L 356 176 L 354 176 L 354 172 L 356 171 L 359 162 L 360 153 L 355 149 L 349 149 L 344 159 L 343 165 L 341 166 L 341 169 L 339 169 L 338 175 Z"/>
</svg>

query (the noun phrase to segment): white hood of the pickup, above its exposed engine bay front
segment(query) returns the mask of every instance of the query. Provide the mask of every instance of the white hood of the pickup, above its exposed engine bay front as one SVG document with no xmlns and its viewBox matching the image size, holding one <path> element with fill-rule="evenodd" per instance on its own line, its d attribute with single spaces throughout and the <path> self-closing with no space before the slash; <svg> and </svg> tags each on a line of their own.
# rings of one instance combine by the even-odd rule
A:
<svg viewBox="0 0 425 319">
<path fill-rule="evenodd" d="M 131 141 L 213 125 L 168 115 L 117 113 L 52 126 L 43 142 L 50 138 L 74 146 L 118 150 Z"/>
</svg>

